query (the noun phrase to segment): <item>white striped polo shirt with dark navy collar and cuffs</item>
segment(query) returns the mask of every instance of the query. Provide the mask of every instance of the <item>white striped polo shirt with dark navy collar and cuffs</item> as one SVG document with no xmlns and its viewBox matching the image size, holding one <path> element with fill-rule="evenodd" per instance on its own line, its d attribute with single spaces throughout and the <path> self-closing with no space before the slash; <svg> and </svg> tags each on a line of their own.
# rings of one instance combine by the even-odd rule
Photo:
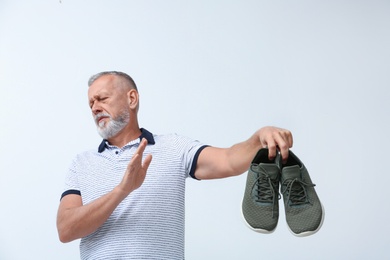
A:
<svg viewBox="0 0 390 260">
<path fill-rule="evenodd" d="M 114 210 L 108 220 L 80 242 L 81 259 L 184 259 L 185 180 L 194 176 L 199 153 L 206 146 L 179 136 L 152 135 L 122 148 L 103 140 L 98 151 L 78 154 L 62 194 L 80 194 L 83 204 L 112 191 L 122 180 L 141 138 L 152 154 L 144 183 Z"/>
</svg>

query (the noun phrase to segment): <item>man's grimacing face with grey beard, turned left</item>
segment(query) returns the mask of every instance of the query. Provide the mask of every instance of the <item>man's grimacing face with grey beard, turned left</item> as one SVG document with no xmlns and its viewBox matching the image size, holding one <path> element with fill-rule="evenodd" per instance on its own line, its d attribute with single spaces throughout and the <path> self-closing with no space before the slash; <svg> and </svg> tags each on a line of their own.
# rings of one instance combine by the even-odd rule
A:
<svg viewBox="0 0 390 260">
<path fill-rule="evenodd" d="M 89 106 L 103 139 L 116 136 L 130 121 L 126 91 L 113 75 L 98 78 L 88 90 Z"/>
</svg>

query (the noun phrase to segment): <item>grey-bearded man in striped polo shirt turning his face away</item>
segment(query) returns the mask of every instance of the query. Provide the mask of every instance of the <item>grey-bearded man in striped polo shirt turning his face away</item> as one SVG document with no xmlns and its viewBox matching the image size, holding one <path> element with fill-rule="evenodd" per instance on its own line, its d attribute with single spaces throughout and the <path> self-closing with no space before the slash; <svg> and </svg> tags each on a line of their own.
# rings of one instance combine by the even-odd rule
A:
<svg viewBox="0 0 390 260">
<path fill-rule="evenodd" d="M 140 129 L 139 95 L 130 76 L 102 72 L 88 82 L 92 116 L 103 141 L 77 155 L 57 215 L 62 242 L 81 238 L 82 259 L 184 259 L 186 177 L 245 172 L 256 152 L 292 146 L 288 130 L 264 127 L 230 148 Z M 153 156 L 153 159 L 152 159 Z"/>
</svg>

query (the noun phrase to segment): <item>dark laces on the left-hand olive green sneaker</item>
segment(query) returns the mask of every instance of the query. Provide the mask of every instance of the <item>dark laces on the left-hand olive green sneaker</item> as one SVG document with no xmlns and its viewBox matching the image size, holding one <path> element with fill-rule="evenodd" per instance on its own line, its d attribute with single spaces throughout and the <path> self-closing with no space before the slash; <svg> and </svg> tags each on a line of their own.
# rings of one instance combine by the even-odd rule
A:
<svg viewBox="0 0 390 260">
<path fill-rule="evenodd" d="M 279 192 L 275 192 L 278 180 L 273 181 L 266 170 L 260 167 L 262 171 L 259 172 L 259 177 L 255 180 L 252 190 L 256 188 L 257 202 L 271 202 L 272 203 L 272 217 L 274 217 L 275 200 L 280 199 Z M 277 196 L 276 196 L 277 193 Z"/>
</svg>

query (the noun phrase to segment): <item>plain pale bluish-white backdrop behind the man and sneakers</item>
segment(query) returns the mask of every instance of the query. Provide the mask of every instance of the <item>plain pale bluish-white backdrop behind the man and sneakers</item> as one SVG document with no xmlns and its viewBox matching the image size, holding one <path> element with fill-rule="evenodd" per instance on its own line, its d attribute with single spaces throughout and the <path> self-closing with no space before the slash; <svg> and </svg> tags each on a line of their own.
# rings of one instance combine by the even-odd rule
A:
<svg viewBox="0 0 390 260">
<path fill-rule="evenodd" d="M 246 174 L 186 193 L 186 259 L 385 259 L 389 226 L 390 2 L 0 1 L 0 259 L 78 259 L 56 210 L 76 153 L 100 143 L 89 76 L 129 73 L 140 125 L 229 147 L 265 125 L 325 205 L 297 238 L 283 207 L 271 235 L 248 229 Z"/>
</svg>

